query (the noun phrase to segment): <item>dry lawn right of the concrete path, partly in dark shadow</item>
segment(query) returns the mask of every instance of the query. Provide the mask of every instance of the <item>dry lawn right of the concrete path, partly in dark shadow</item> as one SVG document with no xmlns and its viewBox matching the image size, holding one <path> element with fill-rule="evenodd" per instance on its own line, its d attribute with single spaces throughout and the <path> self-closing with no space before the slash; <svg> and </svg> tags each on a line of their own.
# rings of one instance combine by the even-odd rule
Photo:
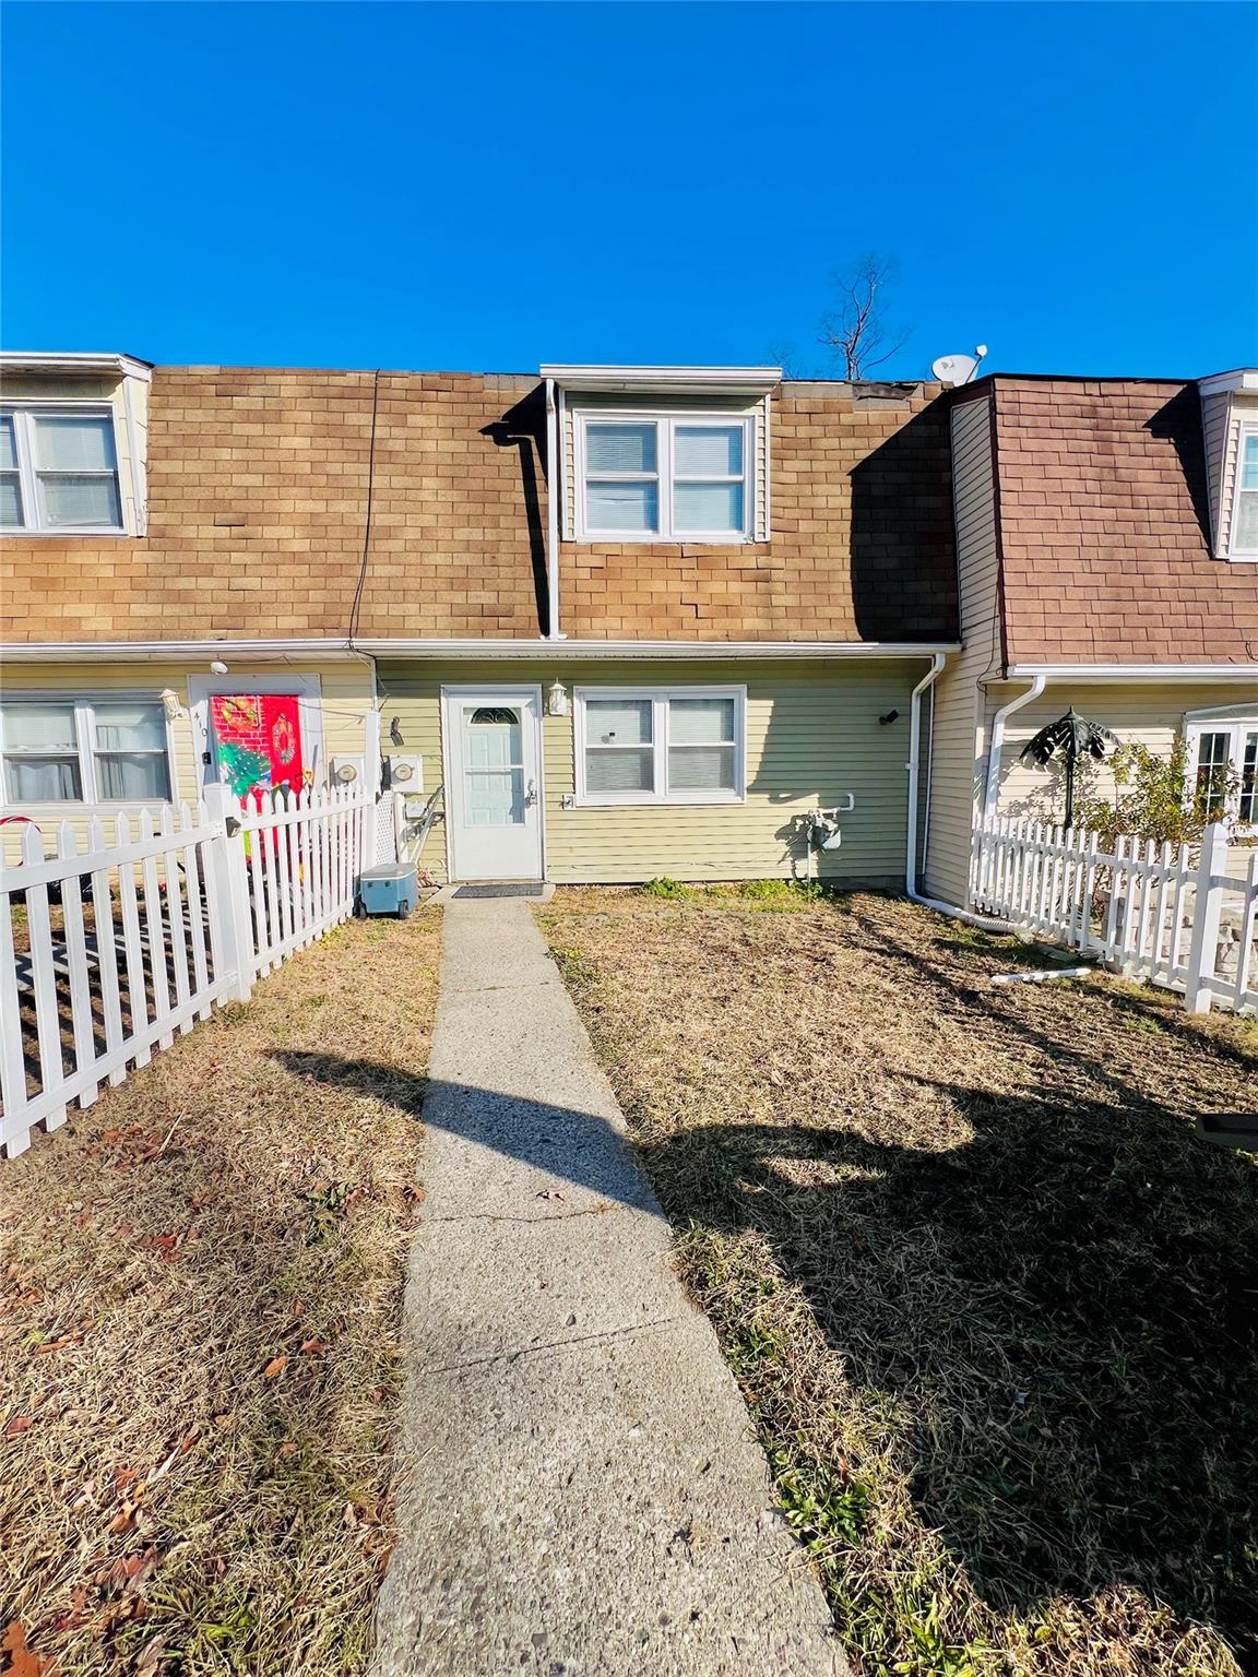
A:
<svg viewBox="0 0 1258 1677">
<path fill-rule="evenodd" d="M 1258 1670 L 1258 1025 L 871 896 L 542 924 L 862 1677 Z"/>
</svg>

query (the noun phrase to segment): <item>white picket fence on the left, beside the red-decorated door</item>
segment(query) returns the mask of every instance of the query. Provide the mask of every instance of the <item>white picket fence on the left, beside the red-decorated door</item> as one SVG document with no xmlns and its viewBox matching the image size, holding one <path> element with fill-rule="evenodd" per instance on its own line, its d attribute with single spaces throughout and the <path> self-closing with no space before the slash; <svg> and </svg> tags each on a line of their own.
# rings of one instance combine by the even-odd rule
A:
<svg viewBox="0 0 1258 1677">
<path fill-rule="evenodd" d="M 62 823 L 45 855 L 27 827 L 20 865 L 0 869 L 8 1157 L 347 919 L 374 860 L 374 797 L 273 793 L 243 812 L 210 787 L 196 812 L 94 818 L 86 838 Z"/>
</svg>

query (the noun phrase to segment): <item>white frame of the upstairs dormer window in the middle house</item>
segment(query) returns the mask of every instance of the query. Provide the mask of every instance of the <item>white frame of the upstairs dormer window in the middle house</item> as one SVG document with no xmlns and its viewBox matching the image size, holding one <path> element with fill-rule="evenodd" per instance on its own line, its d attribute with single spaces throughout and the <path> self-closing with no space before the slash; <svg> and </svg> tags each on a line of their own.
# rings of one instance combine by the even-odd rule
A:
<svg viewBox="0 0 1258 1677">
<path fill-rule="evenodd" d="M 574 528 L 577 542 L 600 543 L 641 543 L 641 542 L 693 542 L 704 547 L 740 547 L 756 538 L 756 485 L 760 480 L 758 424 L 753 413 L 716 413 L 710 408 L 579 408 L 572 414 L 575 456 L 574 485 Z M 658 530 L 595 530 L 585 520 L 585 431 L 592 424 L 654 424 L 656 428 L 656 470 L 644 471 L 599 471 L 595 478 L 617 480 L 626 483 L 642 483 L 652 480 L 658 486 L 659 528 Z M 674 530 L 673 527 L 673 486 L 674 473 L 674 433 L 678 426 L 711 426 L 733 428 L 743 433 L 743 527 L 741 530 Z M 711 480 L 684 476 L 683 483 L 738 483 L 738 478 L 720 476 Z"/>
</svg>

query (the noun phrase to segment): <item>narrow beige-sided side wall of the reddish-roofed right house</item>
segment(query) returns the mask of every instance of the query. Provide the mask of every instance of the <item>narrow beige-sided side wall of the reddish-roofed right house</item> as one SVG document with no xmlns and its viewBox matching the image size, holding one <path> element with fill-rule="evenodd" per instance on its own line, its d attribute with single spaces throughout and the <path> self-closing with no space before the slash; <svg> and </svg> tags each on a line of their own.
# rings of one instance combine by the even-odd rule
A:
<svg viewBox="0 0 1258 1677">
<path fill-rule="evenodd" d="M 996 506 L 991 471 L 990 397 L 953 409 L 956 563 L 963 651 L 934 684 L 931 825 L 924 882 L 931 896 L 963 904 L 969 889 L 969 842 L 980 753 L 980 679 L 1000 661 L 996 620 Z"/>
</svg>

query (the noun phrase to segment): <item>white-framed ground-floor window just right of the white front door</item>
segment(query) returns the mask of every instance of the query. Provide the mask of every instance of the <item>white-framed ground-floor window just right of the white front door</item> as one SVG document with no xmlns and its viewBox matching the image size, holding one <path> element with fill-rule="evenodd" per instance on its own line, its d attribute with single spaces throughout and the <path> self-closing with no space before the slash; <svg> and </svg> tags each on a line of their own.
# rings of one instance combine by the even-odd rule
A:
<svg viewBox="0 0 1258 1677">
<path fill-rule="evenodd" d="M 579 803 L 738 803 L 745 688 L 579 688 Z"/>
</svg>

